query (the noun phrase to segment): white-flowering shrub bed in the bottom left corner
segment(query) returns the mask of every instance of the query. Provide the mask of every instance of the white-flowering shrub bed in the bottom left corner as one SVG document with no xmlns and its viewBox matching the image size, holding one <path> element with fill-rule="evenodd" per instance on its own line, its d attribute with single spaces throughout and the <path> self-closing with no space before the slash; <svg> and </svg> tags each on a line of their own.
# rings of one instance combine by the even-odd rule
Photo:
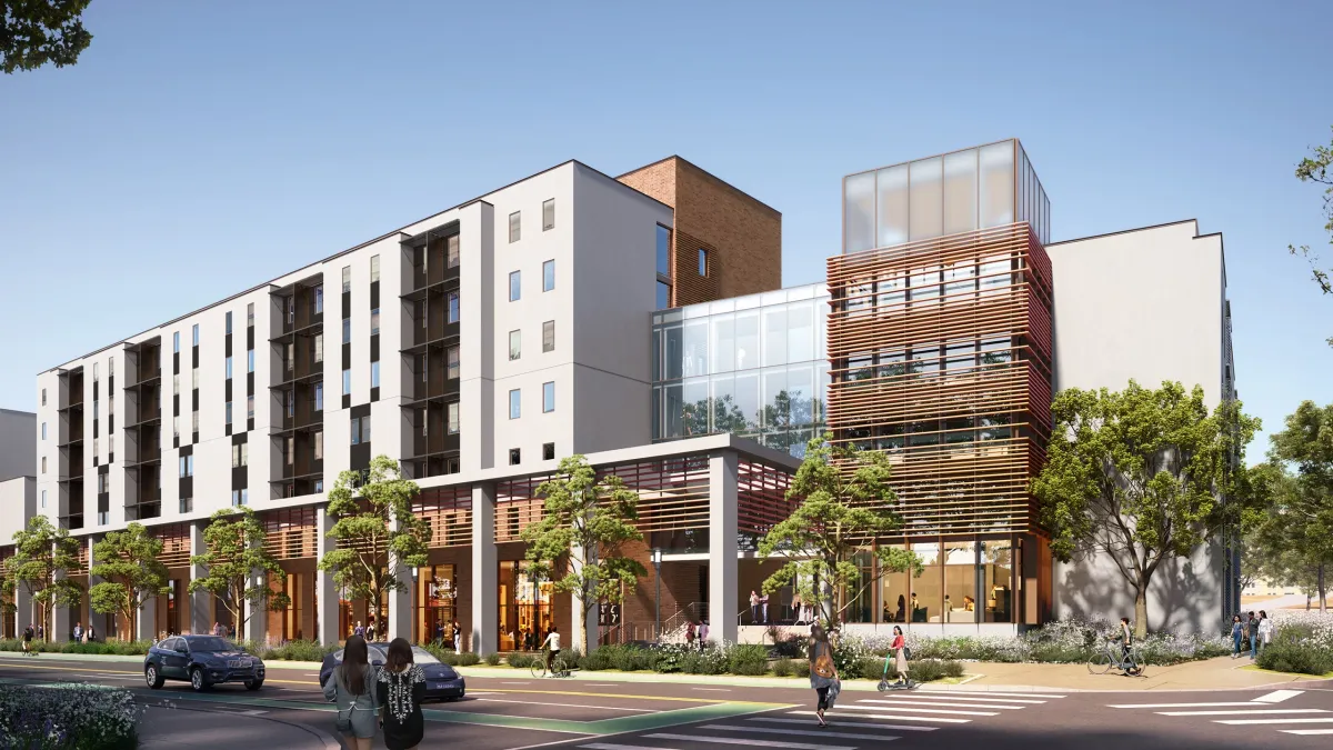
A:
<svg viewBox="0 0 1333 750">
<path fill-rule="evenodd" d="M 120 687 L 0 685 L 0 747 L 133 750 L 141 715 Z"/>
</svg>

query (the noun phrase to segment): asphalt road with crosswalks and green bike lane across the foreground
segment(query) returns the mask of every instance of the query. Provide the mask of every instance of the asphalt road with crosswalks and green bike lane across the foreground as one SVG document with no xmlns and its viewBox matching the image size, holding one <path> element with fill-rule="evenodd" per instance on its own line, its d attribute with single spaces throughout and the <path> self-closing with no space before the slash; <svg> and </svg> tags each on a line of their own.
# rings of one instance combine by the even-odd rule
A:
<svg viewBox="0 0 1333 750">
<path fill-rule="evenodd" d="M 477 750 L 1210 750 L 1333 746 L 1333 685 L 1202 693 L 874 694 L 846 691 L 818 729 L 814 693 L 725 685 L 601 682 L 467 675 L 468 697 L 425 709 L 423 747 Z M 145 705 L 264 715 L 329 730 L 331 706 L 313 673 L 271 669 L 264 689 L 185 683 L 149 690 L 125 662 L 0 659 L 7 682 L 97 682 L 129 687 Z"/>
</svg>

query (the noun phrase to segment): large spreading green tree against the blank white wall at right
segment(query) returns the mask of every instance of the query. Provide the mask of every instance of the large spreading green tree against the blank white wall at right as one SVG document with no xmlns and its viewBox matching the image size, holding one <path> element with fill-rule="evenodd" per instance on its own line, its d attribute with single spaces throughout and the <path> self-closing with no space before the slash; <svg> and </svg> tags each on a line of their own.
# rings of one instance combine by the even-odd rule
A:
<svg viewBox="0 0 1333 750">
<path fill-rule="evenodd" d="M 1204 390 L 1180 383 L 1120 392 L 1068 388 L 1050 407 L 1046 466 L 1032 480 L 1050 551 L 1110 559 L 1134 591 L 1134 630 L 1148 633 L 1158 567 L 1238 527 L 1250 502 L 1245 446 L 1258 428 L 1238 402 L 1208 412 Z M 1224 502 L 1225 499 L 1225 502 Z"/>
</svg>

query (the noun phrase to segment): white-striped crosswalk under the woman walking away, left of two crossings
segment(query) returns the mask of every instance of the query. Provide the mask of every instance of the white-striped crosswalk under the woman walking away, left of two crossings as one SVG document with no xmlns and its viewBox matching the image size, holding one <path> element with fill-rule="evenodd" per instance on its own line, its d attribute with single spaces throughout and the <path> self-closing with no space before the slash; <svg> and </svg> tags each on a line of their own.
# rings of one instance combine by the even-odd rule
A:
<svg viewBox="0 0 1333 750">
<path fill-rule="evenodd" d="M 854 698 L 844 693 L 825 714 L 821 729 L 812 710 L 773 711 L 737 717 L 728 723 L 705 723 L 653 731 L 617 742 L 589 742 L 580 750 L 725 750 L 776 747 L 780 750 L 858 750 L 909 737 L 926 737 L 950 726 L 1008 715 L 1058 701 L 1064 695 L 1033 693 L 913 690 Z"/>
</svg>

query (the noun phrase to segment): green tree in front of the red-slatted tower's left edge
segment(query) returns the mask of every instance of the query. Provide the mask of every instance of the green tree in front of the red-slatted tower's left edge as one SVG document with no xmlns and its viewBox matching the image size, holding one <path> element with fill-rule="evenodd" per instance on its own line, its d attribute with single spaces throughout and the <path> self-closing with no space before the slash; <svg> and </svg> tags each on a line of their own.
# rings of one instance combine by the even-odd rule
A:
<svg viewBox="0 0 1333 750">
<path fill-rule="evenodd" d="M 893 511 L 889 458 L 832 439 L 829 432 L 806 444 L 786 491 L 800 504 L 758 544 L 760 558 L 786 560 L 764 581 L 764 593 L 790 586 L 802 602 L 818 602 L 820 618 L 830 626 L 885 574 L 924 570 L 913 552 L 877 543 L 902 527 Z M 868 558 L 878 565 L 862 575 L 858 560 Z"/>
</svg>

